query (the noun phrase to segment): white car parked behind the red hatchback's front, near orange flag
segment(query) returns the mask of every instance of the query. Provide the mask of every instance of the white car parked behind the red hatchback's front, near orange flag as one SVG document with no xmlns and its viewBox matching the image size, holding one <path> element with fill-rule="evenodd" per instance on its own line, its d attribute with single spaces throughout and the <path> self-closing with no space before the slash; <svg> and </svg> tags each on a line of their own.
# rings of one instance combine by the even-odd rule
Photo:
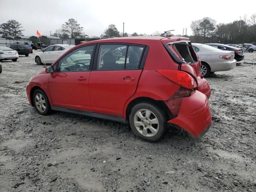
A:
<svg viewBox="0 0 256 192">
<path fill-rule="evenodd" d="M 75 45 L 66 45 L 66 44 L 56 44 L 44 48 L 42 51 L 39 51 L 35 54 L 35 62 L 38 65 L 44 63 L 53 63 L 58 59 L 62 54 L 67 50 L 73 48 Z"/>
</svg>

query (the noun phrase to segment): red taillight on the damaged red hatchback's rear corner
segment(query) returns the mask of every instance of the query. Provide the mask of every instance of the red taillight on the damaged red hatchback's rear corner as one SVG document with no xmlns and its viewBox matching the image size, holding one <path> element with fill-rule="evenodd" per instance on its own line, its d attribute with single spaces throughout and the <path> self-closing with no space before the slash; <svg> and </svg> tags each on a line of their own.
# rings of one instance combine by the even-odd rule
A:
<svg viewBox="0 0 256 192">
<path fill-rule="evenodd" d="M 184 71 L 156 70 L 156 72 L 184 88 L 194 89 L 197 87 L 197 83 L 194 78 Z"/>
</svg>

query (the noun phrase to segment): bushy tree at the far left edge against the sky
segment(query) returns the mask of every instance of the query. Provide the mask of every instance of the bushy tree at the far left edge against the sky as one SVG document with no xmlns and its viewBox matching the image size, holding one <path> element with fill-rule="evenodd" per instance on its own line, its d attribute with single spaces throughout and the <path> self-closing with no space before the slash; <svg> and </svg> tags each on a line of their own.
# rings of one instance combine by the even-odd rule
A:
<svg viewBox="0 0 256 192">
<path fill-rule="evenodd" d="M 9 20 L 0 25 L 0 34 L 2 35 L 2 38 L 19 36 L 22 35 L 22 31 L 24 31 L 21 28 L 22 26 L 18 21 Z"/>
</svg>

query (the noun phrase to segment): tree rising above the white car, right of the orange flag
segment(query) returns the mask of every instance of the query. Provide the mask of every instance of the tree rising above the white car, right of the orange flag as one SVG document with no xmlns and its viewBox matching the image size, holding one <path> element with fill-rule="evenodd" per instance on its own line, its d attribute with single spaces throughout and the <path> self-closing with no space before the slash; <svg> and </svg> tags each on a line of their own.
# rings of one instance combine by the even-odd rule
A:
<svg viewBox="0 0 256 192">
<path fill-rule="evenodd" d="M 82 31 L 83 27 L 78 24 L 77 20 L 71 18 L 65 24 L 62 24 L 62 32 L 63 34 L 68 34 L 70 38 L 76 38 L 78 36 L 83 36 Z"/>
</svg>

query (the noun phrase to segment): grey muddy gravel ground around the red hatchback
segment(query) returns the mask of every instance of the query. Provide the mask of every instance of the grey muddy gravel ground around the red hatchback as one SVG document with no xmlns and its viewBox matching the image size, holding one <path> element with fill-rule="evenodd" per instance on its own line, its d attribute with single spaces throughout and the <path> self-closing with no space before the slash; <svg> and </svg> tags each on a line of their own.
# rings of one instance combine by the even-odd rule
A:
<svg viewBox="0 0 256 192">
<path fill-rule="evenodd" d="M 245 58 L 207 78 L 212 126 L 200 141 L 175 129 L 156 143 L 116 122 L 40 116 L 26 85 L 44 68 L 34 54 L 2 62 L 0 191 L 256 192 L 256 52 Z"/>
</svg>

